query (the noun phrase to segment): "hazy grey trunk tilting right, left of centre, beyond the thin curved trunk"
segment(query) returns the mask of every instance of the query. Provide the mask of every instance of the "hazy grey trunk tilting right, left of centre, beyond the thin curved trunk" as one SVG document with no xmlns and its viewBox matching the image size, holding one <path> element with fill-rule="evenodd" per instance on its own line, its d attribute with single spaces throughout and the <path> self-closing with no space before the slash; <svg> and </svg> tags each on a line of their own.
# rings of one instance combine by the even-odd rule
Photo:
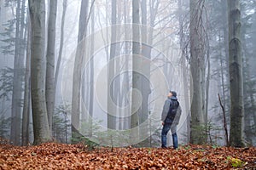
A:
<svg viewBox="0 0 256 170">
<path fill-rule="evenodd" d="M 81 76 L 83 67 L 84 41 L 87 31 L 88 20 L 88 0 L 82 0 L 79 16 L 79 37 L 78 48 L 73 67 L 73 94 L 72 94 L 72 137 L 79 137 L 80 126 L 80 97 L 81 97 Z"/>
</svg>

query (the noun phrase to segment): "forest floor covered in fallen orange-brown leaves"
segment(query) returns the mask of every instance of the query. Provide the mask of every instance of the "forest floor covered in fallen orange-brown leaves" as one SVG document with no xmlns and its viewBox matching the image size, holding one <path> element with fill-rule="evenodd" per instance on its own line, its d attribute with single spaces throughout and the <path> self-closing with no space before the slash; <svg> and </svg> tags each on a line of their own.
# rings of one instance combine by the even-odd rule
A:
<svg viewBox="0 0 256 170">
<path fill-rule="evenodd" d="M 83 144 L 0 144 L 0 169 L 256 169 L 256 148 L 185 145 L 96 148 Z"/>
</svg>

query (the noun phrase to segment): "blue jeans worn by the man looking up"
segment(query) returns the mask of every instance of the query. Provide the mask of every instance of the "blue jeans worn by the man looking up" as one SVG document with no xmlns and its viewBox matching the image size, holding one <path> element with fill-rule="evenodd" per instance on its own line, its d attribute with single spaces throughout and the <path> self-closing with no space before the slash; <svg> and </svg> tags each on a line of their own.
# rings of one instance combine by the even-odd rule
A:
<svg viewBox="0 0 256 170">
<path fill-rule="evenodd" d="M 167 143 L 167 133 L 171 129 L 172 131 L 172 143 L 173 143 L 173 148 L 177 149 L 177 126 L 172 125 L 172 124 L 164 124 L 162 128 L 162 133 L 161 133 L 161 142 L 162 142 L 162 148 L 166 148 L 166 143 Z"/>
</svg>

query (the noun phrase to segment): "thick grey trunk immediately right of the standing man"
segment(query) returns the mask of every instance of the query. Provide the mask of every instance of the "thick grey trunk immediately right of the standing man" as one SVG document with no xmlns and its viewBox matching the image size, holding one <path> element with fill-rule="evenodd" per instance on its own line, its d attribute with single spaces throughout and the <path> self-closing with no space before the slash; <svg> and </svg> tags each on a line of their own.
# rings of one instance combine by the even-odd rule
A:
<svg viewBox="0 0 256 170">
<path fill-rule="evenodd" d="M 205 143 L 205 44 L 203 42 L 202 0 L 190 0 L 190 69 L 193 78 L 190 143 Z M 201 129 L 201 130 L 200 130 Z"/>
</svg>

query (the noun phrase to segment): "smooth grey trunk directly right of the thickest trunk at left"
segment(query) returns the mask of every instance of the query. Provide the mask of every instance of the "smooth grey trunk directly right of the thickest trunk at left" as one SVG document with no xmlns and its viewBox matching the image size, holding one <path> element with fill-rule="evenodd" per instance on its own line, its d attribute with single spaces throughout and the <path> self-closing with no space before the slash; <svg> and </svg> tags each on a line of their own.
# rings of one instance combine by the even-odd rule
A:
<svg viewBox="0 0 256 170">
<path fill-rule="evenodd" d="M 57 0 L 49 1 L 48 37 L 46 51 L 45 96 L 48 114 L 49 132 L 52 131 L 52 116 L 55 110 L 55 23 Z"/>
</svg>

